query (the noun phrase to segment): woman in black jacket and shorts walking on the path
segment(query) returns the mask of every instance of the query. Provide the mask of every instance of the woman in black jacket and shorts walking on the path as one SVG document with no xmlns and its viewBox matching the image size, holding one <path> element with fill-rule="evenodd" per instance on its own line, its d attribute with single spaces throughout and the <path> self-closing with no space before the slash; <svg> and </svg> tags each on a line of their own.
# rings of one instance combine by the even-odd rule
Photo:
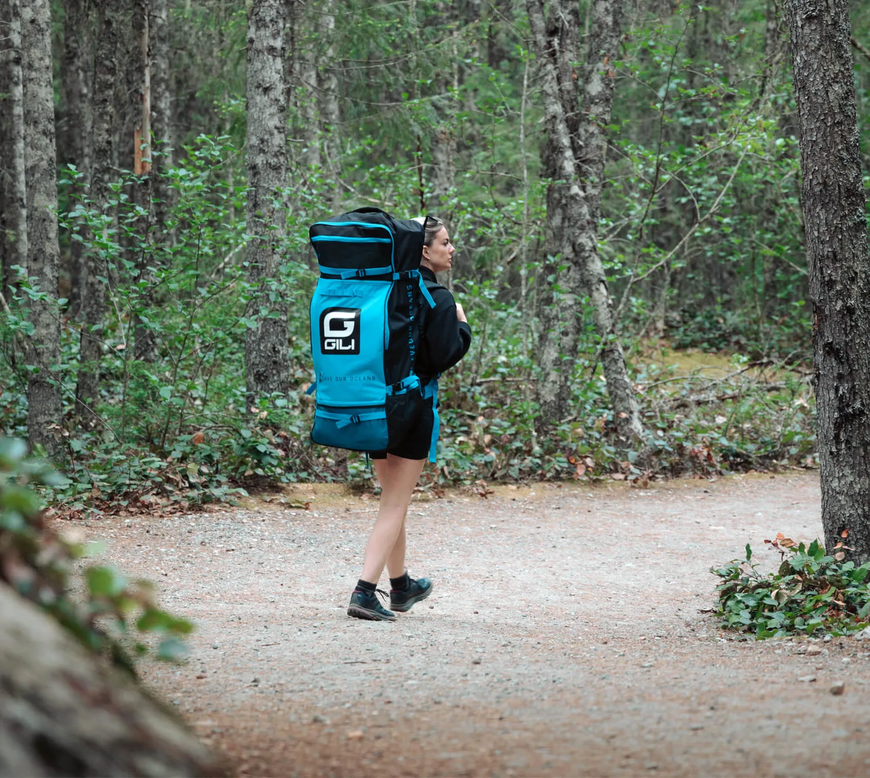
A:
<svg viewBox="0 0 870 778">
<path fill-rule="evenodd" d="M 439 372 L 445 372 L 465 356 L 472 343 L 472 330 L 459 305 L 435 274 L 450 269 L 456 249 L 439 218 L 419 218 L 425 227 L 423 258 L 420 273 L 430 282 L 429 291 L 435 308 L 425 313 L 423 334 L 418 352 L 417 374 L 421 386 Z M 433 400 L 434 402 L 434 400 Z M 432 441 L 435 423 L 432 406 L 425 406 L 405 439 L 387 451 L 371 452 L 381 485 L 378 520 L 365 546 L 363 573 L 351 594 L 347 614 L 357 619 L 393 621 L 392 611 L 411 610 L 415 602 L 432 594 L 432 581 L 413 579 L 405 568 L 405 517 L 417 479 L 423 470 Z M 378 580 L 387 568 L 390 574 L 390 607 L 388 611 L 378 601 Z M 383 594 L 383 593 L 381 593 Z"/>
</svg>

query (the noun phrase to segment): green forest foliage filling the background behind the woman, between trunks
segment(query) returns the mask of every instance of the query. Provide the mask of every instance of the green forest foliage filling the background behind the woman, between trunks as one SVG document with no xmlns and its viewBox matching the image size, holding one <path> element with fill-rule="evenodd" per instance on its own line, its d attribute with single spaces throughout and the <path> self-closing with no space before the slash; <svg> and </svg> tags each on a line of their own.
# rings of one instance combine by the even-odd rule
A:
<svg viewBox="0 0 870 778">
<path fill-rule="evenodd" d="M 535 433 L 541 306 L 562 278 L 545 264 L 551 182 L 542 174 L 543 106 L 522 3 L 473 10 L 343 0 L 335 9 L 341 23 L 333 30 L 320 25 L 316 3 L 296 7 L 288 28 L 285 261 L 263 289 L 251 285 L 245 264 L 242 10 L 172 11 L 173 79 L 184 99 L 174 101 L 183 106 L 174 117 L 182 143 L 164 172 L 171 184 L 164 225 L 153 224 L 147 179 L 118 173 L 114 202 L 104 207 L 70 185 L 80 178 L 71 165 L 64 172 L 64 250 L 76 241 L 99 259 L 108 311 L 91 412 L 75 401 L 83 325 L 60 305 L 58 423 L 69 480 L 43 487 L 48 499 L 64 508 L 105 507 L 105 500 L 122 509 L 184 508 L 264 484 L 370 480 L 364 458 L 311 446 L 304 394 L 316 281 L 306 229 L 361 204 L 437 212 L 458 246 L 452 288 L 474 345 L 442 379 L 438 469 L 427 466 L 425 476 L 432 484 L 643 482 L 813 464 L 813 399 L 800 372 L 811 325 L 795 106 L 787 65 L 776 64 L 787 57 L 763 53 L 764 3 L 742 3 L 736 16 L 686 3 L 673 13 L 632 15 L 613 64 L 599 249 L 648 433 L 633 451 L 615 433 L 585 300 L 576 305 L 581 337 L 566 419 L 543 439 Z M 854 29 L 867 22 L 858 14 Z M 300 77 L 309 60 L 338 75 L 338 128 L 318 115 L 323 90 Z M 860 61 L 859 75 L 866 102 Z M 444 137 L 454 145 L 454 175 L 436 197 L 435 143 Z M 327 138 L 340 159 L 325 158 Z M 321 164 L 309 164 L 309 144 Z M 10 292 L 10 312 L 0 319 L 0 420 L 5 433 L 23 436 L 30 368 L 15 342 L 29 332 L 29 300 L 45 292 L 26 282 Z M 289 305 L 291 391 L 258 399 L 252 410 L 244 334 L 261 293 Z M 154 339 L 156 359 L 137 355 L 143 333 Z M 735 364 L 725 380 L 677 379 L 648 359 L 656 338 L 736 352 L 776 375 L 749 380 Z M 641 462 L 642 450 L 651 456 Z"/>
</svg>

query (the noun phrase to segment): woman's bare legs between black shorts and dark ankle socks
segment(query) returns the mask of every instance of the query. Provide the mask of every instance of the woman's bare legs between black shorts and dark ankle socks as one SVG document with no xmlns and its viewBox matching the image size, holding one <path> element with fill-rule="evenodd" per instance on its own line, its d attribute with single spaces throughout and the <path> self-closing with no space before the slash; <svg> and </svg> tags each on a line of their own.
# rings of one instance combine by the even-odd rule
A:
<svg viewBox="0 0 870 778">
<path fill-rule="evenodd" d="M 365 546 L 362 580 L 378 583 L 384 572 L 386 560 L 402 536 L 404 548 L 405 515 L 414 486 L 423 470 L 425 459 L 402 459 L 387 454 L 386 459 L 375 459 L 375 471 L 381 485 L 381 499 L 378 507 L 378 520 L 371 530 L 369 542 Z M 402 554 L 402 573 L 405 572 Z M 399 573 L 401 575 L 402 573 Z"/>
</svg>

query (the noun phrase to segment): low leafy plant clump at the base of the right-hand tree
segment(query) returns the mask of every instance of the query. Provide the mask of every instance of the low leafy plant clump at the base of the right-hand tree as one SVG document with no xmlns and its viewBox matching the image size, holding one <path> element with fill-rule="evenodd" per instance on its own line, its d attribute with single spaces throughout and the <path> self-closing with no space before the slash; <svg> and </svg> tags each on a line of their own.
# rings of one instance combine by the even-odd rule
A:
<svg viewBox="0 0 870 778">
<path fill-rule="evenodd" d="M 844 561 L 842 551 L 832 556 L 818 540 L 809 546 L 795 544 L 782 533 L 765 542 L 782 555 L 776 573 L 760 572 L 748 543 L 745 560 L 711 568 L 722 580 L 716 587 L 716 615 L 723 627 L 762 640 L 787 634 L 848 634 L 867 626 L 870 562 L 856 567 Z"/>
</svg>

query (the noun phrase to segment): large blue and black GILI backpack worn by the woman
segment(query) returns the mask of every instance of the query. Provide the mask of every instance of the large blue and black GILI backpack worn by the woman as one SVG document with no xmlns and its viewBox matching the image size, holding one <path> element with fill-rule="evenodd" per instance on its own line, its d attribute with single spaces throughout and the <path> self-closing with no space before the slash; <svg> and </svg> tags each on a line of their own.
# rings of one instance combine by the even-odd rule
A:
<svg viewBox="0 0 870 778">
<path fill-rule="evenodd" d="M 378 208 L 311 225 L 320 265 L 311 298 L 315 443 L 383 451 L 431 403 L 435 461 L 438 379 L 423 386 L 414 372 L 425 310 L 435 307 L 419 271 L 424 232 Z"/>
</svg>

